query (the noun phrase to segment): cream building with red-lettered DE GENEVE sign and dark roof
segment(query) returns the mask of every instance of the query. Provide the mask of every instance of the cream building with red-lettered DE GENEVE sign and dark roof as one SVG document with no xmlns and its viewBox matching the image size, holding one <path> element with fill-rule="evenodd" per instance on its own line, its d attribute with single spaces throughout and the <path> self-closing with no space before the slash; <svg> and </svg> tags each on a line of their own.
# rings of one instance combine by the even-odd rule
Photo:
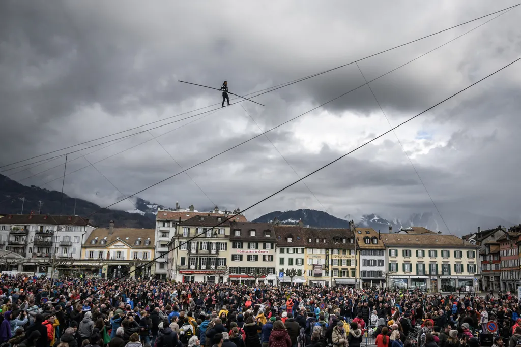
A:
<svg viewBox="0 0 521 347">
<path fill-rule="evenodd" d="M 230 243 L 231 282 L 277 284 L 277 238 L 271 223 L 232 222 Z"/>
</svg>

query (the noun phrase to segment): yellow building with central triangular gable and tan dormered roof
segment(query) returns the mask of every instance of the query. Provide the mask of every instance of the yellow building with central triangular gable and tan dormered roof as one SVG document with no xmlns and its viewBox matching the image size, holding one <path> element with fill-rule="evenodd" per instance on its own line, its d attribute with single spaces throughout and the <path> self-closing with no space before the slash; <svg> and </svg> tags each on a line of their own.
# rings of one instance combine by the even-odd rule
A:
<svg viewBox="0 0 521 347">
<path fill-rule="evenodd" d="M 154 276 L 155 229 L 97 228 L 81 248 L 81 258 L 75 265 L 89 275 L 119 278 L 130 274 L 134 278 Z M 136 271 L 137 269 L 137 271 Z M 100 272 L 101 271 L 101 272 Z"/>
</svg>

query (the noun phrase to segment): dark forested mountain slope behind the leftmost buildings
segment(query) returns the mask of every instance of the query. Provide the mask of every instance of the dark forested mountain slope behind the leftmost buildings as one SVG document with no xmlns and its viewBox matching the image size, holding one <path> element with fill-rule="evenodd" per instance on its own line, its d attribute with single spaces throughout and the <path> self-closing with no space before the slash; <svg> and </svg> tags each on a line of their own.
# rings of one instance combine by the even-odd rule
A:
<svg viewBox="0 0 521 347">
<path fill-rule="evenodd" d="M 22 201 L 22 198 L 25 198 L 25 201 Z M 59 215 L 60 199 L 61 192 L 57 190 L 24 186 L 0 175 L 0 213 L 19 214 L 22 212 L 22 203 L 23 213 L 29 213 L 31 210 L 38 213 L 41 201 L 42 213 Z M 132 213 L 110 209 L 102 210 L 102 207 L 95 203 L 64 194 L 61 214 L 76 214 L 86 217 L 96 212 L 88 217 L 89 223 L 94 226 L 108 226 L 109 221 L 112 220 L 116 227 L 154 228 L 158 205 L 140 198 L 134 200 L 134 203 L 138 209 L 131 211 Z"/>
</svg>

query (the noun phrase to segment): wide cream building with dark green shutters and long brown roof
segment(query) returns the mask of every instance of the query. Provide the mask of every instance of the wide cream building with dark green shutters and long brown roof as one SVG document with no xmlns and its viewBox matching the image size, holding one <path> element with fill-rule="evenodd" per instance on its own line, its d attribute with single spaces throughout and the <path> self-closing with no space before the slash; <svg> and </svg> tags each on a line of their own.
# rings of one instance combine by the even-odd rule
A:
<svg viewBox="0 0 521 347">
<path fill-rule="evenodd" d="M 427 291 L 477 290 L 478 246 L 453 235 L 381 234 L 388 285 Z"/>
</svg>

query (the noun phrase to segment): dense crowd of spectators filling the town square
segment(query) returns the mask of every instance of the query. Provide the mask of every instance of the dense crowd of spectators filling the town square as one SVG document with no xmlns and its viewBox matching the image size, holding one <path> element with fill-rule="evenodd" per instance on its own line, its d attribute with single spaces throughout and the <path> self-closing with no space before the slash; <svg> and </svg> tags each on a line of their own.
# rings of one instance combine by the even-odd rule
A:
<svg viewBox="0 0 521 347">
<path fill-rule="evenodd" d="M 489 320 L 521 345 L 501 293 L 3 276 L 0 298 L 0 347 L 475 347 Z"/>
</svg>

